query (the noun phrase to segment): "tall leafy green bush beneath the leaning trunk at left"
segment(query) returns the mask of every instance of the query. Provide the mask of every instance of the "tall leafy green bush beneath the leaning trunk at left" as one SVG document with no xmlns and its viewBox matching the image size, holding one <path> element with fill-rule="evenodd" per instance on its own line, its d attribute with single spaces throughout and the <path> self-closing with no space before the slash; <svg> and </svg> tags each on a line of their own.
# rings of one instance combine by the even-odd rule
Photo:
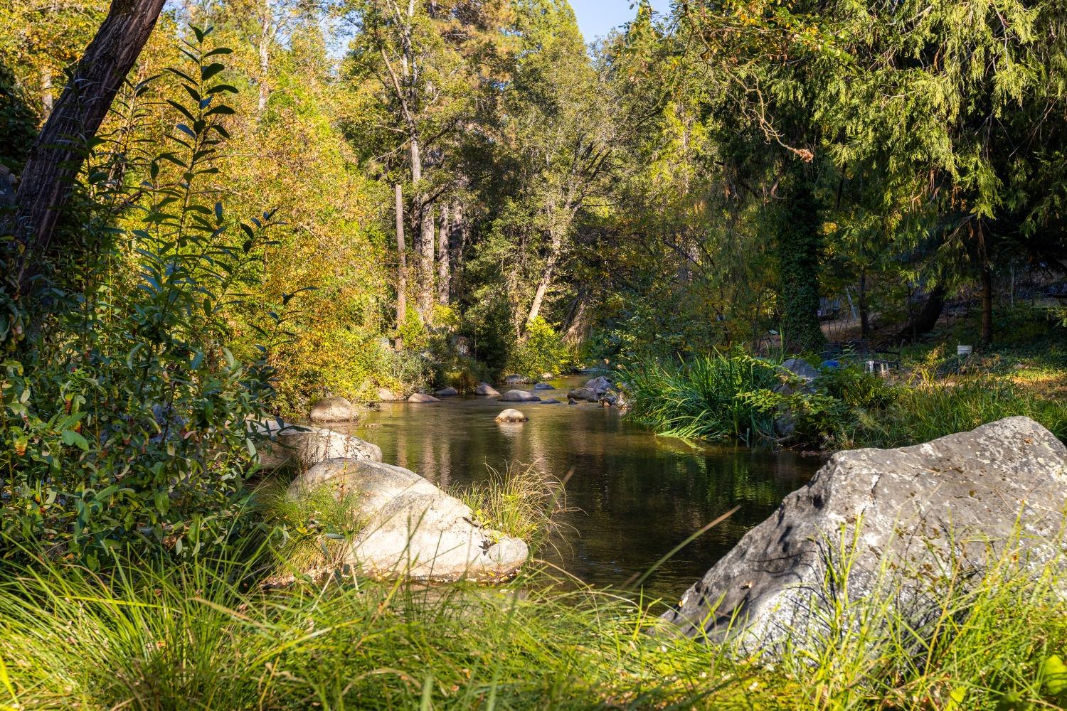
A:
<svg viewBox="0 0 1067 711">
<path fill-rule="evenodd" d="M 245 363 L 224 345 L 271 215 L 244 224 L 204 203 L 200 183 L 218 171 L 234 113 L 223 98 L 236 92 L 214 80 L 229 50 L 207 47 L 209 32 L 194 28 L 189 64 L 171 70 L 192 101 L 170 102 L 168 150 L 141 162 L 122 146 L 91 156 L 85 229 L 100 251 L 33 314 L 39 330 L 20 343 L 9 332 L 18 357 L 0 363 L 0 530 L 91 566 L 124 542 L 178 554 L 229 545 L 256 455 L 245 420 L 272 394 L 266 350 Z M 139 216 L 115 227 L 126 201 Z M 284 317 L 264 321 L 276 338 Z"/>
</svg>

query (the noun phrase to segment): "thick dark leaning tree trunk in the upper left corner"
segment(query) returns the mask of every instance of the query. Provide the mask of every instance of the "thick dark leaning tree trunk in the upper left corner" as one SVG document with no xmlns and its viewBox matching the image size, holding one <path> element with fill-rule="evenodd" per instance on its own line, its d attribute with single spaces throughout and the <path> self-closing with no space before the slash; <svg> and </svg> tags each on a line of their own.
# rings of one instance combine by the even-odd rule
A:
<svg viewBox="0 0 1067 711">
<path fill-rule="evenodd" d="M 112 0 L 108 17 L 34 142 L 16 196 L 14 231 L 23 246 L 17 269 L 19 289 L 25 289 L 47 253 L 84 161 L 83 147 L 100 128 L 163 2 Z"/>
</svg>

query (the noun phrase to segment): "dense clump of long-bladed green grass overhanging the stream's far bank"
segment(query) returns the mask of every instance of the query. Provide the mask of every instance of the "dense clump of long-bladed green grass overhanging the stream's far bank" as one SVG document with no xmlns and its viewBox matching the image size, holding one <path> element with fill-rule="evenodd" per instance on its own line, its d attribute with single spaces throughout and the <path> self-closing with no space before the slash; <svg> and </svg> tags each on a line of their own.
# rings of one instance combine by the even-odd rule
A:
<svg viewBox="0 0 1067 711">
<path fill-rule="evenodd" d="M 774 414 L 739 395 L 774 387 L 778 370 L 744 351 L 632 366 L 625 371 L 630 413 L 664 437 L 755 443 L 774 437 Z"/>
</svg>

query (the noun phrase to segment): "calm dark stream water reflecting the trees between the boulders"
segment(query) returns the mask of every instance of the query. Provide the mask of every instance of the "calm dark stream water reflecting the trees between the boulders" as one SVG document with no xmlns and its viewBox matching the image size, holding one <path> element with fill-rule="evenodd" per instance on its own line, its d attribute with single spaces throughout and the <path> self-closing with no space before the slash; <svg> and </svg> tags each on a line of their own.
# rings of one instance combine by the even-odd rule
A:
<svg viewBox="0 0 1067 711">
<path fill-rule="evenodd" d="M 648 594 L 676 599 L 782 497 L 818 466 L 791 452 L 690 447 L 655 437 L 614 408 L 567 404 L 567 390 L 586 378 L 552 381 L 538 390 L 558 405 L 499 403 L 495 398 L 446 398 L 436 404 L 383 403 L 352 432 L 382 448 L 385 462 L 442 487 L 480 481 L 488 467 L 535 463 L 562 478 L 571 467 L 562 516 L 567 539 L 542 558 L 582 580 L 620 585 L 712 519 L 740 511 L 686 546 L 644 583 Z M 503 388 L 501 388 L 503 391 Z M 497 424 L 505 407 L 529 416 Z"/>
</svg>

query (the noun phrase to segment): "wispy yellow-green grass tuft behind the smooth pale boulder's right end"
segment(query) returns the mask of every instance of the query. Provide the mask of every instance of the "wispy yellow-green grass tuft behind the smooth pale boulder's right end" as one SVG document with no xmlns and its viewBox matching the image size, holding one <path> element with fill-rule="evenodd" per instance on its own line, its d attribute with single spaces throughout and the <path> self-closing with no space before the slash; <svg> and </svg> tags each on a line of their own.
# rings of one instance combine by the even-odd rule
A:
<svg viewBox="0 0 1067 711">
<path fill-rule="evenodd" d="M 562 481 L 517 462 L 504 471 L 489 467 L 487 480 L 451 494 L 471 507 L 477 523 L 525 540 L 531 551 L 560 532 L 559 514 L 568 511 Z"/>
</svg>

